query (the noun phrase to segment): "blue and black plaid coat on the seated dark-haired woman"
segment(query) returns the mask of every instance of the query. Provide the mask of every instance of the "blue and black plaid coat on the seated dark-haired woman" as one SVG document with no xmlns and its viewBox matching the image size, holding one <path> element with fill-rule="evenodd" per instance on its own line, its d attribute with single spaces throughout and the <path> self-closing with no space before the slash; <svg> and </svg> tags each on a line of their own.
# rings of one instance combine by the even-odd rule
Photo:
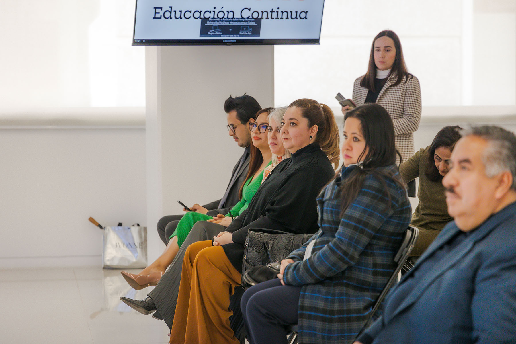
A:
<svg viewBox="0 0 516 344">
<path fill-rule="evenodd" d="M 302 286 L 299 298 L 300 343 L 352 343 L 385 283 L 396 268 L 411 218 L 407 191 L 384 178 L 368 175 L 357 198 L 340 216 L 340 184 L 357 166 L 343 167 L 318 196 L 319 231 L 288 258 L 285 284 Z M 383 171 L 401 181 L 397 167 Z M 303 260 L 310 242 L 312 254 Z"/>
</svg>

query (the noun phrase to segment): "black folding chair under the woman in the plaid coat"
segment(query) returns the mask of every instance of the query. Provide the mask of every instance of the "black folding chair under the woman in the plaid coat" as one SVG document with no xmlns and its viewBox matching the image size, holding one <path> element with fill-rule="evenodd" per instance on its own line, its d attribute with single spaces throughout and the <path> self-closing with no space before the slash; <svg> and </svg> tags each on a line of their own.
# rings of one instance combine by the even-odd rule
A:
<svg viewBox="0 0 516 344">
<path fill-rule="evenodd" d="M 409 266 L 407 264 L 407 259 L 409 257 L 410 251 L 412 251 L 412 249 L 414 248 L 418 235 L 419 230 L 417 228 L 411 226 L 407 228 L 407 232 L 405 233 L 405 239 L 403 239 L 403 242 L 401 243 L 398 252 L 394 256 L 394 261 L 397 264 L 396 269 L 392 272 L 391 278 L 389 279 L 389 281 L 387 281 L 385 287 L 383 287 L 382 292 L 376 299 L 375 305 L 373 306 L 371 312 L 369 312 L 369 315 L 364 325 L 364 329 L 362 330 L 365 330 L 369 326 L 369 320 L 376 313 L 378 307 L 380 307 L 381 303 L 383 302 L 383 299 L 385 299 L 385 296 L 391 290 L 391 287 L 394 285 L 394 283 L 398 282 L 398 275 L 401 269 L 403 268 L 404 270 L 408 271 L 413 267 L 413 265 Z M 297 330 L 297 324 L 288 326 L 288 344 L 297 344 Z"/>
</svg>

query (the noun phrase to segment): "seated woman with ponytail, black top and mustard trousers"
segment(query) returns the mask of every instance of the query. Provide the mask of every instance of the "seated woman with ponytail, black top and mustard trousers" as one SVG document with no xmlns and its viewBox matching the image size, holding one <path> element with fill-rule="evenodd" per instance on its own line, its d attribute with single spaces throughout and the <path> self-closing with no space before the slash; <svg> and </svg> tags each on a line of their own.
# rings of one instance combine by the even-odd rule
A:
<svg viewBox="0 0 516 344">
<path fill-rule="evenodd" d="M 268 176 L 249 207 L 212 241 L 191 244 L 183 260 L 171 343 L 238 343 L 230 328 L 230 296 L 240 284 L 250 227 L 315 233 L 316 196 L 334 175 L 339 135 L 326 105 L 301 99 L 286 110 L 281 129 L 292 153 Z"/>
</svg>

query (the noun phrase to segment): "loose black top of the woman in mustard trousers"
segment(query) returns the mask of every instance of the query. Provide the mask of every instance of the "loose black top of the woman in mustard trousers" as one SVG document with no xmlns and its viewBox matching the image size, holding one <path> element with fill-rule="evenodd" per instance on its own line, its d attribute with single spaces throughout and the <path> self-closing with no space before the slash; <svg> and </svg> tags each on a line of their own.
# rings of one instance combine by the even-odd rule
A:
<svg viewBox="0 0 516 344">
<path fill-rule="evenodd" d="M 249 207 L 227 229 L 233 233 L 233 243 L 222 248 L 231 264 L 241 272 L 249 228 L 300 234 L 317 232 L 315 199 L 334 175 L 330 160 L 316 143 L 280 162 L 258 188 Z"/>
</svg>

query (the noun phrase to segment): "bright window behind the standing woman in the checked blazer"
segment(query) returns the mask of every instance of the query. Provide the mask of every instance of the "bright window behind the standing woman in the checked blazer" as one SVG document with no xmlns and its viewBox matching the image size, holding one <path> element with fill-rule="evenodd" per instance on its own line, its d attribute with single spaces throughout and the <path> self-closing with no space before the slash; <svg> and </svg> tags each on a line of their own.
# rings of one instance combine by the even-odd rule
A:
<svg viewBox="0 0 516 344">
<path fill-rule="evenodd" d="M 381 5 L 380 5 L 381 4 Z M 275 47 L 275 102 L 338 107 L 365 74 L 373 38 L 400 37 L 423 106 L 516 105 L 514 0 L 326 0 L 321 44 Z"/>
</svg>

